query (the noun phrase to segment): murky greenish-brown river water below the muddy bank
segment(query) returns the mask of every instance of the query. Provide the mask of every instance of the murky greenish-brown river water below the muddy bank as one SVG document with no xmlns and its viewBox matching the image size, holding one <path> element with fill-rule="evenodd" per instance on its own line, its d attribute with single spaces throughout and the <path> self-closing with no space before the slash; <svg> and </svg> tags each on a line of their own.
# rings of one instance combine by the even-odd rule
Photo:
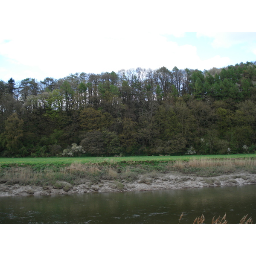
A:
<svg viewBox="0 0 256 256">
<path fill-rule="evenodd" d="M 0 224 L 192 224 L 226 213 L 256 222 L 256 186 L 0 198 Z"/>
</svg>

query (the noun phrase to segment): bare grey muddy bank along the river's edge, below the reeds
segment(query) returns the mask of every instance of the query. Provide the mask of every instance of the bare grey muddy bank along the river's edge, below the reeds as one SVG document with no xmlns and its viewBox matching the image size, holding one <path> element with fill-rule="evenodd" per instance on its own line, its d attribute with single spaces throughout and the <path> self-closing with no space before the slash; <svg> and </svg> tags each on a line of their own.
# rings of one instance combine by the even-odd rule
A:
<svg viewBox="0 0 256 256">
<path fill-rule="evenodd" d="M 92 192 L 128 192 L 163 189 L 189 189 L 210 186 L 240 186 L 256 184 L 256 174 L 237 172 L 216 177 L 198 177 L 184 175 L 179 172 L 162 174 L 158 177 L 146 177 L 141 175 L 134 182 L 126 180 L 100 180 L 92 183 L 90 180 L 81 179 L 79 185 L 71 185 L 65 181 L 59 181 L 55 186 L 22 186 L 19 184 L 0 184 L 0 196 L 19 195 L 70 195 Z"/>
</svg>

